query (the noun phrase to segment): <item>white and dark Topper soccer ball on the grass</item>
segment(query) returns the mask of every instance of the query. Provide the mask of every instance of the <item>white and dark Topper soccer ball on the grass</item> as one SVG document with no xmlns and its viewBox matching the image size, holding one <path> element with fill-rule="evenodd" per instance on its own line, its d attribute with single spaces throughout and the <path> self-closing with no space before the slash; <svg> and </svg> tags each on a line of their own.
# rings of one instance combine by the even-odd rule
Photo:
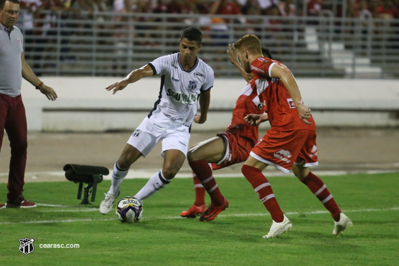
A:
<svg viewBox="0 0 399 266">
<path fill-rule="evenodd" d="M 136 223 L 143 214 L 143 205 L 133 197 L 125 197 L 116 206 L 116 216 L 123 223 Z"/>
</svg>

